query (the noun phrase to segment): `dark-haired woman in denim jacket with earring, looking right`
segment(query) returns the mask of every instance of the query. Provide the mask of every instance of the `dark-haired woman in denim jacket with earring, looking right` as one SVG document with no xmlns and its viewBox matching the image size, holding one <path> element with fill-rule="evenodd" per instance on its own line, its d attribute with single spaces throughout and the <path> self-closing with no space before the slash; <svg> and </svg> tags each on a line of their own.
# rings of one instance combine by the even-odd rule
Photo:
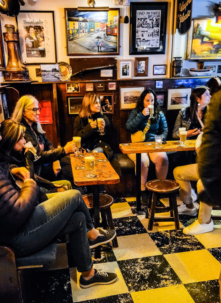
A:
<svg viewBox="0 0 221 303">
<path fill-rule="evenodd" d="M 182 108 L 176 118 L 173 128 L 173 138 L 178 139 L 177 131 L 180 127 L 185 127 L 187 138 L 196 139 L 204 127 L 203 122 L 207 113 L 207 105 L 210 102 L 211 95 L 209 88 L 198 86 L 193 89 L 190 95 L 190 106 Z"/>
</svg>

